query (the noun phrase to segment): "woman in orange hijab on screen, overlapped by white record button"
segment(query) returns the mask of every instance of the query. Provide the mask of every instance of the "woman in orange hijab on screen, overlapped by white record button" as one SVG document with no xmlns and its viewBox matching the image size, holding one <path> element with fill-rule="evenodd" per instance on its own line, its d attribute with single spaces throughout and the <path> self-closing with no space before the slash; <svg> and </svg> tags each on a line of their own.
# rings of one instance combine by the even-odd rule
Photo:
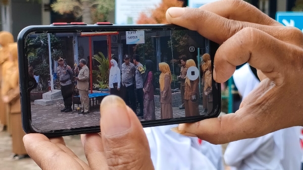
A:
<svg viewBox="0 0 303 170">
<path fill-rule="evenodd" d="M 186 61 L 186 67 L 196 67 L 193 59 Z M 199 79 L 190 80 L 187 76 L 185 78 L 185 116 L 199 116 Z"/>
</svg>

